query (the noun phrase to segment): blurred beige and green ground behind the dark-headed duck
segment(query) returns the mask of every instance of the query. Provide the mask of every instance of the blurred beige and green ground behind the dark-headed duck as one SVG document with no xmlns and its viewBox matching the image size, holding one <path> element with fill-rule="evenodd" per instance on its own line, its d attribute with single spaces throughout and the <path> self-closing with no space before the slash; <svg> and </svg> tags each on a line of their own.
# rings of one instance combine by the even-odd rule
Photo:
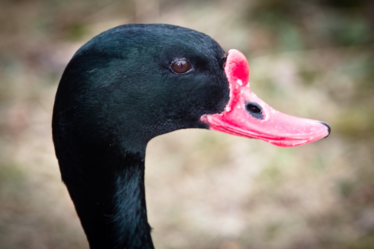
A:
<svg viewBox="0 0 374 249">
<path fill-rule="evenodd" d="M 51 138 L 65 65 L 96 34 L 162 22 L 242 51 L 272 107 L 323 120 L 295 148 L 208 130 L 151 140 L 157 249 L 374 248 L 371 0 L 1 0 L 0 248 L 88 248 Z"/>
</svg>

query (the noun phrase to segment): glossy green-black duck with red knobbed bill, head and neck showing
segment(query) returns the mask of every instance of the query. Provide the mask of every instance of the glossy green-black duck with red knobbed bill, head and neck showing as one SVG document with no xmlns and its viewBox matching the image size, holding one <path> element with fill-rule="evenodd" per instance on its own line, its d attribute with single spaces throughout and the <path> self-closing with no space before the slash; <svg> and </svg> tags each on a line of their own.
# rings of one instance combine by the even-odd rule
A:
<svg viewBox="0 0 374 249">
<path fill-rule="evenodd" d="M 238 50 L 166 24 L 129 24 L 93 37 L 62 74 L 52 133 L 91 248 L 154 248 L 144 197 L 145 147 L 186 128 L 296 146 L 328 124 L 274 110 L 249 89 Z"/>
</svg>

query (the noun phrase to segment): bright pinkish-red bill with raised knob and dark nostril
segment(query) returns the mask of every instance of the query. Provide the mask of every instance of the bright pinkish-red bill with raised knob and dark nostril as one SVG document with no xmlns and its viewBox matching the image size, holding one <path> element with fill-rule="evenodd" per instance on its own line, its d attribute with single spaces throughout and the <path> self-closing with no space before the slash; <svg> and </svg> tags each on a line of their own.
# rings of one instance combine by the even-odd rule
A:
<svg viewBox="0 0 374 249">
<path fill-rule="evenodd" d="M 307 144 L 329 135 L 327 123 L 281 113 L 252 93 L 248 61 L 240 51 L 229 51 L 225 73 L 230 100 L 222 113 L 200 118 L 209 124 L 209 129 L 259 138 L 283 147 Z"/>
</svg>

